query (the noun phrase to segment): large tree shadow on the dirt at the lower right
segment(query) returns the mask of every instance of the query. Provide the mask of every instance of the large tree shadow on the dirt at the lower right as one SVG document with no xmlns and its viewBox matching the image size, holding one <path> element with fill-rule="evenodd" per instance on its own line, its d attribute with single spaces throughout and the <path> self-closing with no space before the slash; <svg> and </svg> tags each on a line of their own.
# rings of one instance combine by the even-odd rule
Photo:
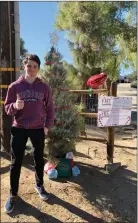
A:
<svg viewBox="0 0 138 223">
<path fill-rule="evenodd" d="M 81 175 L 70 179 L 58 179 L 66 183 L 74 182 L 81 186 L 86 199 L 96 206 L 101 213 L 112 213 L 115 222 L 136 223 L 137 174 L 120 168 L 109 175 L 103 168 L 77 163 Z M 113 222 L 113 221 L 112 221 Z"/>
</svg>

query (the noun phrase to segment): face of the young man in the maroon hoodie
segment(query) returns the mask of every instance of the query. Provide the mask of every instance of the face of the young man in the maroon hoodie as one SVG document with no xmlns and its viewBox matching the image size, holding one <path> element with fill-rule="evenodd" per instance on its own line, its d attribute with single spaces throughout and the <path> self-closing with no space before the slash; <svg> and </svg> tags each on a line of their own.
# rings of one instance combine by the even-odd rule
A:
<svg viewBox="0 0 138 223">
<path fill-rule="evenodd" d="M 29 60 L 28 63 L 25 64 L 24 70 L 28 76 L 36 77 L 39 71 L 38 64 L 33 60 Z"/>
</svg>

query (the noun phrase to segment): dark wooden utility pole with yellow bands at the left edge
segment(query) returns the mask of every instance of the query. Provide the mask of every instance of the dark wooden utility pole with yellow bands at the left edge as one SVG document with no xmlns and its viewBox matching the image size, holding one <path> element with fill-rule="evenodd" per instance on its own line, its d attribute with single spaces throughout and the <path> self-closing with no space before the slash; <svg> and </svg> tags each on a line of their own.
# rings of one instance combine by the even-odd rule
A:
<svg viewBox="0 0 138 223">
<path fill-rule="evenodd" d="M 14 2 L 0 2 L 0 77 L 1 77 L 1 145 L 10 152 L 12 117 L 4 111 L 8 86 L 16 80 L 15 73 Z"/>
</svg>

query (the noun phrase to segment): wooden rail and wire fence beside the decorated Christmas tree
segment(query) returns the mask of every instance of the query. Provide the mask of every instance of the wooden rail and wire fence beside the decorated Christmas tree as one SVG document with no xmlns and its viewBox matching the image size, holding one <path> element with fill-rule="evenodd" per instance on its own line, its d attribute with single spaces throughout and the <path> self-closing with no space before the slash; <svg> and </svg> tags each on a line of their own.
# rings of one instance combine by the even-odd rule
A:
<svg viewBox="0 0 138 223">
<path fill-rule="evenodd" d="M 108 96 L 116 96 L 117 95 L 117 83 L 111 82 L 109 79 L 106 82 L 106 89 L 98 89 L 93 90 L 93 97 L 90 98 L 88 90 L 69 90 L 70 93 L 85 95 L 83 98 L 83 102 L 85 103 L 85 110 L 80 113 L 80 115 L 85 117 L 86 124 L 94 124 L 97 123 L 97 108 L 98 108 L 98 95 L 106 94 Z M 89 119 L 88 119 L 89 118 Z M 94 123 L 92 122 L 94 119 Z M 97 141 L 107 144 L 107 160 L 108 163 L 113 163 L 113 153 L 114 153 L 114 127 L 107 127 L 107 139 L 101 137 L 87 137 L 80 136 L 83 140 L 91 140 Z"/>
</svg>

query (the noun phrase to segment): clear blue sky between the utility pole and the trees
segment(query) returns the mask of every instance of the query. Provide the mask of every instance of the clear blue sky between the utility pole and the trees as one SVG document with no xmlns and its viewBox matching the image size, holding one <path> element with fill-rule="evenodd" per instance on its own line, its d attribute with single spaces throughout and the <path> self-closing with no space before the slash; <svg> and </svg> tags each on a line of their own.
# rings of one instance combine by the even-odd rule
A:
<svg viewBox="0 0 138 223">
<path fill-rule="evenodd" d="M 50 36 L 54 32 L 54 22 L 58 11 L 57 2 L 19 2 L 20 36 L 25 41 L 29 53 L 37 54 L 44 65 L 44 56 L 50 49 Z M 71 52 L 65 38 L 65 32 L 57 32 L 59 36 L 58 50 L 63 58 L 72 63 Z M 131 68 L 121 68 L 121 75 L 130 73 Z"/>
</svg>

